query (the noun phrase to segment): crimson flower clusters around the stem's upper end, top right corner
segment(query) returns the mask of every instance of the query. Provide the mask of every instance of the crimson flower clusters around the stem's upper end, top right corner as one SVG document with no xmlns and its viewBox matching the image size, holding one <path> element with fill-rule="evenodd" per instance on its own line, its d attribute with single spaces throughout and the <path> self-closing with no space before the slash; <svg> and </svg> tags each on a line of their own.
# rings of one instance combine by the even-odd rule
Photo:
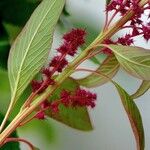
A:
<svg viewBox="0 0 150 150">
<path fill-rule="evenodd" d="M 139 6 L 139 0 L 112 0 L 108 6 L 106 6 L 106 11 L 115 11 L 112 17 L 115 17 L 117 13 L 124 15 L 128 10 L 134 11 L 134 16 L 120 29 L 129 28 L 131 33 L 126 34 L 123 37 L 119 37 L 116 41 L 110 39 L 105 40 L 104 44 L 121 44 L 130 46 L 134 44 L 134 38 L 136 36 L 142 35 L 146 41 L 150 40 L 150 2 L 148 2 L 143 8 Z M 142 21 L 141 16 L 148 10 L 147 23 Z M 113 20 L 113 18 L 111 18 Z M 110 55 L 112 52 L 108 48 L 103 49 L 103 53 Z"/>
</svg>

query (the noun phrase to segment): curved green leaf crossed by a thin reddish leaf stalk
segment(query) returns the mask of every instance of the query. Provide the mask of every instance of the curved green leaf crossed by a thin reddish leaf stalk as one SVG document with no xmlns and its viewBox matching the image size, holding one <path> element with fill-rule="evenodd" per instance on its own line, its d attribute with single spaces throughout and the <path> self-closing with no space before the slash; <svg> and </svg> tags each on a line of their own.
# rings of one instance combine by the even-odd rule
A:
<svg viewBox="0 0 150 150">
<path fill-rule="evenodd" d="M 102 63 L 102 65 L 96 70 L 98 73 L 102 73 L 107 75 L 110 79 L 114 77 L 114 75 L 117 73 L 119 69 L 119 63 L 116 60 L 116 58 L 112 55 L 105 59 L 105 61 Z M 98 76 L 95 73 L 90 74 L 89 76 L 76 80 L 80 85 L 85 87 L 96 87 L 100 86 L 108 81 L 109 78 L 106 78 L 104 76 Z"/>
</svg>

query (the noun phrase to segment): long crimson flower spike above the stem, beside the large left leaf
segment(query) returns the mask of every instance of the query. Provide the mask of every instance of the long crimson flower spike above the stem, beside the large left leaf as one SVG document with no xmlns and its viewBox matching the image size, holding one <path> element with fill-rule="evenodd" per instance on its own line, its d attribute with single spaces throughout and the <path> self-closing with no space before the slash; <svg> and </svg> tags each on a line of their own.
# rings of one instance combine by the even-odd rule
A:
<svg viewBox="0 0 150 150">
<path fill-rule="evenodd" d="M 78 47 L 85 42 L 85 30 L 72 29 L 63 36 L 64 43 L 57 49 L 58 56 L 55 56 L 49 63 L 49 66 L 43 68 L 41 73 L 43 78 L 41 81 L 33 80 L 31 82 L 32 91 L 42 93 L 49 85 L 55 84 L 52 76 L 56 71 L 62 72 L 63 68 L 68 64 L 66 56 L 74 56 Z"/>
</svg>

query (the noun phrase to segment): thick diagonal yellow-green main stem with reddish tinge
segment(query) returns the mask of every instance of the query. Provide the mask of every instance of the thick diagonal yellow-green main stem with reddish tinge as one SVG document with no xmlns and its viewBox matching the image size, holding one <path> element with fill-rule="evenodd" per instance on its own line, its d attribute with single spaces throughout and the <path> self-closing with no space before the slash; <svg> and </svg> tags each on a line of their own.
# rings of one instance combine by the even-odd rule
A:
<svg viewBox="0 0 150 150">
<path fill-rule="evenodd" d="M 142 0 L 140 6 L 142 7 L 147 2 L 148 0 Z M 56 78 L 56 84 L 48 87 L 44 93 L 42 93 L 34 100 L 30 107 L 25 108 L 22 112 L 20 112 L 20 114 L 18 114 L 9 124 L 9 126 L 0 134 L 0 145 L 19 126 L 22 121 L 28 117 L 28 115 L 30 115 L 35 110 L 35 108 L 39 106 L 39 104 L 41 104 L 41 102 L 49 97 L 61 85 L 61 83 L 75 71 L 75 68 L 83 62 L 84 58 L 88 56 L 89 52 L 93 50 L 95 45 L 103 43 L 105 39 L 109 39 L 112 35 L 119 31 L 120 28 L 132 18 L 133 15 L 134 12 L 130 10 L 116 24 L 114 24 L 104 33 L 100 34 L 88 48 L 86 48 L 72 63 L 70 63 L 67 68 Z"/>
</svg>

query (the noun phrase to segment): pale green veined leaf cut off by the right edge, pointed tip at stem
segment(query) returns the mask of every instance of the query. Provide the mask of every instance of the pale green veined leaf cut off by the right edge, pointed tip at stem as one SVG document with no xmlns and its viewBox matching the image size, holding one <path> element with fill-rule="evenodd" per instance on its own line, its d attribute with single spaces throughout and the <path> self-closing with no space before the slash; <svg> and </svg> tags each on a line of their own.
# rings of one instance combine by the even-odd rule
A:
<svg viewBox="0 0 150 150">
<path fill-rule="evenodd" d="M 122 45 L 104 45 L 110 48 L 120 65 L 131 75 L 150 80 L 150 50 Z"/>
</svg>

